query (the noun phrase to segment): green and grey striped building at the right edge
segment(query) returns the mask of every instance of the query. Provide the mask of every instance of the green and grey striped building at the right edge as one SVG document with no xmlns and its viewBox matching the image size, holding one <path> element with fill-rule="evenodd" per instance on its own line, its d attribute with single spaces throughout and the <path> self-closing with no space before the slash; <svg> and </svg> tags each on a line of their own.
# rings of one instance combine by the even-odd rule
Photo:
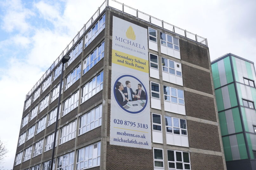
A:
<svg viewBox="0 0 256 170">
<path fill-rule="evenodd" d="M 227 169 L 256 169 L 254 64 L 231 53 L 211 64 Z"/>
</svg>

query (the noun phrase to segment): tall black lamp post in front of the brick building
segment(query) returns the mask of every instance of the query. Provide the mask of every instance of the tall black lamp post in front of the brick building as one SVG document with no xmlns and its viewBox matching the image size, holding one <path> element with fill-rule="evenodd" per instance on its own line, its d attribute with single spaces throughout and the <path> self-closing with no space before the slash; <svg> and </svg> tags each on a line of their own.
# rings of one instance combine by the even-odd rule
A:
<svg viewBox="0 0 256 170">
<path fill-rule="evenodd" d="M 50 170 L 53 168 L 53 158 L 54 158 L 54 151 L 55 151 L 55 144 L 56 144 L 56 134 L 57 134 L 57 127 L 58 127 L 58 118 L 59 118 L 59 111 L 60 111 L 60 101 L 61 101 L 61 87 L 62 87 L 62 77 L 63 77 L 63 69 L 64 64 L 69 61 L 70 57 L 65 55 L 62 57 L 62 68 L 61 68 L 61 80 L 60 80 L 60 90 L 59 90 L 59 98 L 58 98 L 58 106 L 57 106 L 57 115 L 56 115 L 56 123 L 55 123 L 55 131 L 54 131 L 54 139 L 53 139 L 53 148 L 52 148 L 52 159 L 51 159 L 51 166 Z"/>
</svg>

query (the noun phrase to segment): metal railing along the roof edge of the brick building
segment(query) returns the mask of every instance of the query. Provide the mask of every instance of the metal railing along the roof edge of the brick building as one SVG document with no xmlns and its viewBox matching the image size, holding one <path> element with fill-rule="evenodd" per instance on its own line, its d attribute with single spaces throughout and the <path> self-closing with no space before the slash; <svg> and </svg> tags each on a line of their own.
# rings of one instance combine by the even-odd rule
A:
<svg viewBox="0 0 256 170">
<path fill-rule="evenodd" d="M 162 27 L 164 29 L 167 29 L 173 33 L 177 33 L 181 36 L 184 36 L 188 39 L 192 39 L 200 44 L 203 44 L 205 46 L 208 46 L 207 39 L 203 38 L 197 34 L 188 32 L 187 30 L 184 30 L 180 27 L 176 27 L 172 24 L 169 24 L 163 20 L 160 20 L 158 18 L 155 18 L 154 16 L 148 15 L 144 12 L 139 11 L 138 9 L 134 9 L 132 7 L 129 7 L 125 5 L 124 3 L 120 3 L 116 0 L 105 0 L 100 7 L 96 10 L 96 12 L 92 15 L 92 17 L 89 19 L 89 21 L 84 24 L 82 29 L 78 31 L 78 33 L 75 35 L 75 37 L 71 40 L 71 42 L 67 45 L 67 47 L 61 52 L 59 57 L 53 62 L 53 64 L 50 66 L 48 70 L 43 74 L 43 76 L 39 79 L 38 82 L 33 86 L 33 88 L 26 94 L 25 100 L 30 97 L 32 92 L 36 90 L 36 88 L 43 82 L 43 80 L 49 75 L 49 73 L 54 69 L 54 67 L 61 61 L 61 58 L 68 53 L 68 51 L 75 45 L 77 40 L 87 31 L 87 29 L 91 26 L 91 24 L 96 20 L 96 18 L 101 14 L 101 12 L 107 7 L 112 7 L 117 10 L 122 11 L 123 13 L 132 15 L 137 17 L 138 19 L 150 22 L 151 24 L 154 24 L 156 26 Z"/>
</svg>

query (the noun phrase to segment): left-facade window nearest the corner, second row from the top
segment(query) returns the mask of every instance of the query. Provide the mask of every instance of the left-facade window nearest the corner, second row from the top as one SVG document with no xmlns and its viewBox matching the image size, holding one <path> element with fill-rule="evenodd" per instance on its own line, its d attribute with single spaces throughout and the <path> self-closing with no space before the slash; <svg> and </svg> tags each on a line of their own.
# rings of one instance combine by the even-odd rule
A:
<svg viewBox="0 0 256 170">
<path fill-rule="evenodd" d="M 104 42 L 102 42 L 87 58 L 83 60 L 83 74 L 88 72 L 104 57 Z"/>
</svg>

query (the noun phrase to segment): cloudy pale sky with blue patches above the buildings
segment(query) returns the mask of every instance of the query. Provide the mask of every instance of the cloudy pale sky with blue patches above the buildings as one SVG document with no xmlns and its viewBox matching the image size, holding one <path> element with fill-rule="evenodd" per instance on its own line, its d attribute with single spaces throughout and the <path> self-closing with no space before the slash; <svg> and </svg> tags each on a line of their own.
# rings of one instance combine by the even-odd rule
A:
<svg viewBox="0 0 256 170">
<path fill-rule="evenodd" d="M 233 53 L 256 62 L 255 0 L 119 2 L 207 38 L 211 61 Z M 13 167 L 25 95 L 102 3 L 0 0 L 0 170 Z"/>
</svg>

